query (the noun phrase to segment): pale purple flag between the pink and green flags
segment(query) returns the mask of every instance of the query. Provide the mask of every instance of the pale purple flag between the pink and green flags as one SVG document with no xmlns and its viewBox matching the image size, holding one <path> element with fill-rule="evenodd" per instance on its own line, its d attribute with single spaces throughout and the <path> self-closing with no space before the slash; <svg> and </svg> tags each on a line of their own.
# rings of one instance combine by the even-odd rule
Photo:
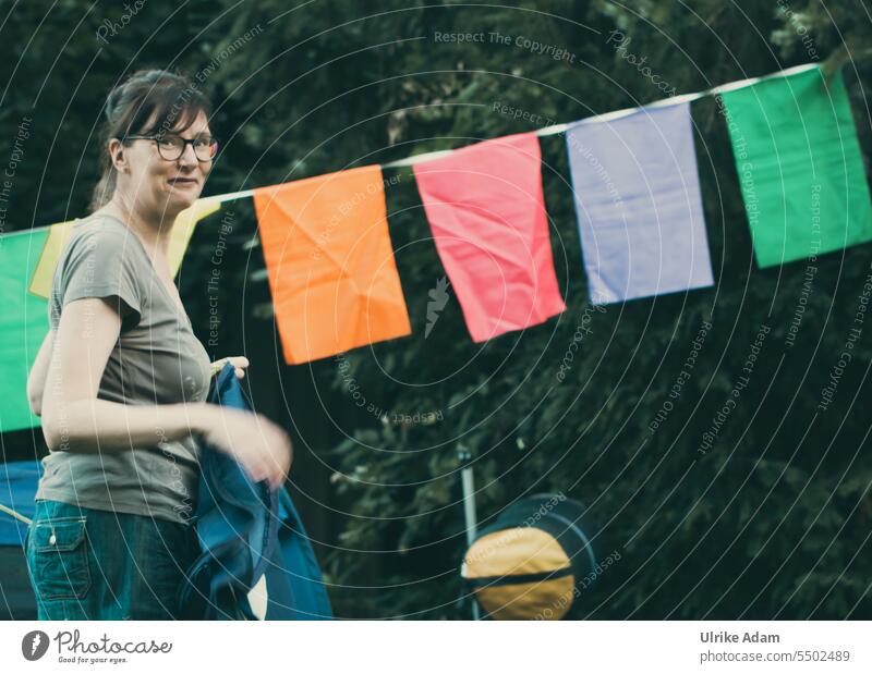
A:
<svg viewBox="0 0 872 674">
<path fill-rule="evenodd" d="M 594 304 L 712 285 L 690 103 L 567 131 Z"/>
</svg>

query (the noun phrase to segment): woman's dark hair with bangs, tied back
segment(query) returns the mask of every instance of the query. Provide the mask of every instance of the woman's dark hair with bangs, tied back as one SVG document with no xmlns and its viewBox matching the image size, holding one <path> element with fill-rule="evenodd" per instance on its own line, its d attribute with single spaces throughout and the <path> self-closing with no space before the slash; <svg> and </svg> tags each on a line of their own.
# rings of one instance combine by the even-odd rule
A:
<svg viewBox="0 0 872 674">
<path fill-rule="evenodd" d="M 111 90 L 106 99 L 106 121 L 100 133 L 100 180 L 94 187 L 90 208 L 105 206 L 116 191 L 117 173 L 106 145 L 128 135 L 184 131 L 203 112 L 211 117 L 206 97 L 175 73 L 142 70 Z"/>
</svg>

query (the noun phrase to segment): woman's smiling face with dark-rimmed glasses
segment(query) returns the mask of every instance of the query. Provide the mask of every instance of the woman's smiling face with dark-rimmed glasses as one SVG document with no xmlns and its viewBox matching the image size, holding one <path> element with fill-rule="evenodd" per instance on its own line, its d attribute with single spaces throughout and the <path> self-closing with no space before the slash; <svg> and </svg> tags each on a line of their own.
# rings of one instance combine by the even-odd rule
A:
<svg viewBox="0 0 872 674">
<path fill-rule="evenodd" d="M 184 139 L 211 136 L 203 112 L 184 131 L 170 133 Z M 211 159 L 198 159 L 190 143 L 175 160 L 165 158 L 172 156 L 171 148 L 165 145 L 159 150 L 154 140 L 131 140 L 126 146 L 118 144 L 116 148 L 123 156 L 120 167 L 116 161 L 119 169 L 117 188 L 126 193 L 128 203 L 135 204 L 137 210 L 154 213 L 160 219 L 174 218 L 179 211 L 191 206 L 199 197 L 211 170 Z M 116 154 L 116 157 L 119 155 Z"/>
</svg>

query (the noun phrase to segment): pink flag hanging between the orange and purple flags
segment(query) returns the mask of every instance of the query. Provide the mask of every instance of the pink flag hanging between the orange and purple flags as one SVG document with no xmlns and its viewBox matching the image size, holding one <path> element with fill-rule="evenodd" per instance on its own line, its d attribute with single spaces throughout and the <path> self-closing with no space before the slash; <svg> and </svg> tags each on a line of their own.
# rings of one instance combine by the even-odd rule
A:
<svg viewBox="0 0 872 674">
<path fill-rule="evenodd" d="M 557 289 L 534 134 L 414 166 L 436 249 L 475 342 L 566 310 Z"/>
</svg>

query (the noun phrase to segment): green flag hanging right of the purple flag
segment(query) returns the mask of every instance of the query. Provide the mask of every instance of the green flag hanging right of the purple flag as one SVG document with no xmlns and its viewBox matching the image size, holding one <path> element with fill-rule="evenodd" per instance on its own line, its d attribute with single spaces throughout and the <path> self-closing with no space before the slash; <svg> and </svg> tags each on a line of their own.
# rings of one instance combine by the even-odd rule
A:
<svg viewBox="0 0 872 674">
<path fill-rule="evenodd" d="M 841 74 L 815 68 L 722 95 L 760 267 L 872 240 Z"/>
</svg>

